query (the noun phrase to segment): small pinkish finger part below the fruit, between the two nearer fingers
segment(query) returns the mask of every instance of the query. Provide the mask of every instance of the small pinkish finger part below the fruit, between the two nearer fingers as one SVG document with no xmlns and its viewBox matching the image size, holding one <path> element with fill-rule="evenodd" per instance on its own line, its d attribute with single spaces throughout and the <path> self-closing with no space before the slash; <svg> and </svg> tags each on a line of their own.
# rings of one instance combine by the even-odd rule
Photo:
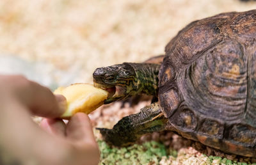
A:
<svg viewBox="0 0 256 165">
<path fill-rule="evenodd" d="M 56 136 L 65 136 L 66 134 L 66 125 L 63 120 L 47 119 L 45 118 L 40 123 L 40 127 Z"/>
</svg>

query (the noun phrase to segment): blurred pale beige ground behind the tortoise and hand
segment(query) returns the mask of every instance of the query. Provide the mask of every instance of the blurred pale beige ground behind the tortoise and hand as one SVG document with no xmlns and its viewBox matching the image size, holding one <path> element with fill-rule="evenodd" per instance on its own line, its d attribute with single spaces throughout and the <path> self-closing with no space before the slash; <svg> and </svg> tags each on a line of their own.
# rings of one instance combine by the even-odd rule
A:
<svg viewBox="0 0 256 165">
<path fill-rule="evenodd" d="M 189 22 L 256 8 L 239 0 L 1 0 L 0 73 L 49 86 L 92 83 L 97 67 L 164 53 Z"/>
</svg>

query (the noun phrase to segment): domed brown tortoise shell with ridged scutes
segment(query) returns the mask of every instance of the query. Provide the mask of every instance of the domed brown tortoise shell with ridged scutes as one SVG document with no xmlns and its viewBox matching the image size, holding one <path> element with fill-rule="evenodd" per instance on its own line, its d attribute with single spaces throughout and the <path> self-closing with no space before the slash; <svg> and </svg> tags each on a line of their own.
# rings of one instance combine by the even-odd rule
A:
<svg viewBox="0 0 256 165">
<path fill-rule="evenodd" d="M 159 102 L 170 128 L 256 157 L 255 39 L 256 10 L 221 13 L 179 31 L 159 72 Z"/>
</svg>

